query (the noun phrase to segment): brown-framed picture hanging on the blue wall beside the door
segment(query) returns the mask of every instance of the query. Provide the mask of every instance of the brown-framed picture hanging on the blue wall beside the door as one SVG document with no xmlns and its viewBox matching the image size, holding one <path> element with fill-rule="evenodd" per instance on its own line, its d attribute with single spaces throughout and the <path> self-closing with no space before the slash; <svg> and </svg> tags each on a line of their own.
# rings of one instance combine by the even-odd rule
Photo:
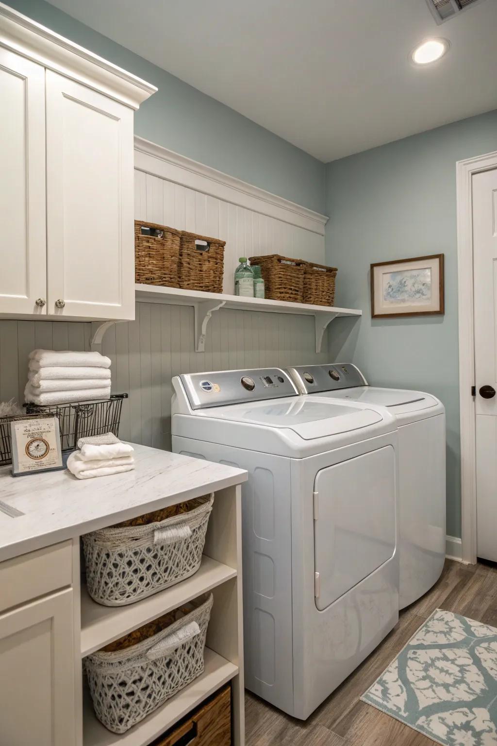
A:
<svg viewBox="0 0 497 746">
<path fill-rule="evenodd" d="M 443 313 L 443 254 L 371 265 L 371 316 Z"/>
</svg>

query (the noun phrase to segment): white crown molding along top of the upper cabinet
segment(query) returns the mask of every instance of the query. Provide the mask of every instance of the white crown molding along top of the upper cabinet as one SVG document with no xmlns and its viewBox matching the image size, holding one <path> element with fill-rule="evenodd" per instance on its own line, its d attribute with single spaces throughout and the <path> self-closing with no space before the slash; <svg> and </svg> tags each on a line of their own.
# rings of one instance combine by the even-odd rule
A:
<svg viewBox="0 0 497 746">
<path fill-rule="evenodd" d="M 0 3 L 0 46 L 138 109 L 156 87 Z"/>
</svg>

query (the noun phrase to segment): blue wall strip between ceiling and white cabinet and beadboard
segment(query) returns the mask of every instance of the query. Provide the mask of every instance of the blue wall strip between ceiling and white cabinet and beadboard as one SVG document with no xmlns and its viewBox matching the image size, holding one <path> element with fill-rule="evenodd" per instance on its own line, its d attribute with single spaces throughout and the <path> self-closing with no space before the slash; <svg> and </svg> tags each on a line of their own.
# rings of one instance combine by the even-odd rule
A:
<svg viewBox="0 0 497 746">
<path fill-rule="evenodd" d="M 140 137 L 323 213 L 325 165 L 320 160 L 44 0 L 7 4 L 156 85 L 159 91 L 136 113 Z"/>
</svg>

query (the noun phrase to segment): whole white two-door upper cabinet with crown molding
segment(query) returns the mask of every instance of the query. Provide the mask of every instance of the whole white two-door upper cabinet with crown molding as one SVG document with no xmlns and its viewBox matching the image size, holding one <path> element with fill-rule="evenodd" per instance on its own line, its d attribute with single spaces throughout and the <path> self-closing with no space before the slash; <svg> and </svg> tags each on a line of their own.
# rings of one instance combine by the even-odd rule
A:
<svg viewBox="0 0 497 746">
<path fill-rule="evenodd" d="M 0 3 L 2 316 L 134 318 L 133 110 L 155 91 Z"/>
</svg>

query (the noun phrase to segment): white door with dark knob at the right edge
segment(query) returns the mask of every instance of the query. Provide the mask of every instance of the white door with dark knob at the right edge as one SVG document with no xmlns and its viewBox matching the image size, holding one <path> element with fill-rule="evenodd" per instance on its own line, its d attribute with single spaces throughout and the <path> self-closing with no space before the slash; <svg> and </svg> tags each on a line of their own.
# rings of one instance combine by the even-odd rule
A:
<svg viewBox="0 0 497 746">
<path fill-rule="evenodd" d="M 477 554 L 497 562 L 497 169 L 472 178 Z"/>
</svg>

